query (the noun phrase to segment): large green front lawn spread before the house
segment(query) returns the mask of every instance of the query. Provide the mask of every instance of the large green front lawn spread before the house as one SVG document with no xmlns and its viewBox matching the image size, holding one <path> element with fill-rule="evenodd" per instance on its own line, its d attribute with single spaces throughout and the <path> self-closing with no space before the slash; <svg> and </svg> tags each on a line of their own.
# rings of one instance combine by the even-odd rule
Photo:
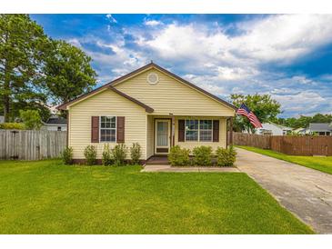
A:
<svg viewBox="0 0 332 249">
<path fill-rule="evenodd" d="M 242 173 L 0 161 L 0 234 L 312 234 Z"/>
</svg>

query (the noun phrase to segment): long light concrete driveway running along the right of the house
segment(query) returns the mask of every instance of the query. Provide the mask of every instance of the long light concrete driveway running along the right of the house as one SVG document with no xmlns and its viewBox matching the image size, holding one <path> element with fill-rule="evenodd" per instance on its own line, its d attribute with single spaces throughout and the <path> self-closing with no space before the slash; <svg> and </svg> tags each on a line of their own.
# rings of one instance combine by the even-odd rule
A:
<svg viewBox="0 0 332 249">
<path fill-rule="evenodd" d="M 332 174 L 236 148 L 237 168 L 318 234 L 332 234 Z"/>
</svg>

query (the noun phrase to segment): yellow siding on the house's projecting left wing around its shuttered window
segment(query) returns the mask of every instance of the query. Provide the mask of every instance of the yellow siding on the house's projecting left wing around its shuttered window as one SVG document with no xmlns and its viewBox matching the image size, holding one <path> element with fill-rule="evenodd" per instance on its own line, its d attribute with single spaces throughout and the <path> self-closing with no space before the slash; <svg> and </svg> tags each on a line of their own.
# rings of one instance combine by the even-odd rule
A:
<svg viewBox="0 0 332 249">
<path fill-rule="evenodd" d="M 108 89 L 69 107 L 69 146 L 73 147 L 75 159 L 85 158 L 84 150 L 89 144 L 96 145 L 97 158 L 101 158 L 104 144 L 110 144 L 110 147 L 116 144 L 91 143 L 93 115 L 125 116 L 126 146 L 129 148 L 133 143 L 139 143 L 142 146 L 141 159 L 146 159 L 146 110 Z"/>
</svg>

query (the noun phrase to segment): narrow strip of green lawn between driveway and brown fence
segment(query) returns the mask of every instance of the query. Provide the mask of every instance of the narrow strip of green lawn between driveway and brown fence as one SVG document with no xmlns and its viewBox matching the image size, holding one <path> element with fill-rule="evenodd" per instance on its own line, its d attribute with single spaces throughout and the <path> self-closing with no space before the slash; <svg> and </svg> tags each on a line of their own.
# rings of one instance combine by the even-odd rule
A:
<svg viewBox="0 0 332 249">
<path fill-rule="evenodd" d="M 266 154 L 277 159 L 281 159 L 290 163 L 300 164 L 302 166 L 317 169 L 327 174 L 332 174 L 332 156 L 299 156 L 299 155 L 288 155 L 282 154 L 271 150 L 259 149 L 249 146 L 238 146 L 236 147 L 246 149 L 248 151 L 256 152 L 259 154 Z"/>
</svg>

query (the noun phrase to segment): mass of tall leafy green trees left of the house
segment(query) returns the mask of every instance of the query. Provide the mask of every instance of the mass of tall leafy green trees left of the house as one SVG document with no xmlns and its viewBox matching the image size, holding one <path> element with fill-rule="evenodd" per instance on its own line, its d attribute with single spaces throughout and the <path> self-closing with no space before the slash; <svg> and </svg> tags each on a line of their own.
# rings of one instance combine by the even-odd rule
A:
<svg viewBox="0 0 332 249">
<path fill-rule="evenodd" d="M 19 110 L 38 110 L 46 120 L 51 104 L 96 85 L 91 58 L 65 41 L 45 35 L 29 15 L 0 15 L 0 114 L 14 121 Z"/>
</svg>

